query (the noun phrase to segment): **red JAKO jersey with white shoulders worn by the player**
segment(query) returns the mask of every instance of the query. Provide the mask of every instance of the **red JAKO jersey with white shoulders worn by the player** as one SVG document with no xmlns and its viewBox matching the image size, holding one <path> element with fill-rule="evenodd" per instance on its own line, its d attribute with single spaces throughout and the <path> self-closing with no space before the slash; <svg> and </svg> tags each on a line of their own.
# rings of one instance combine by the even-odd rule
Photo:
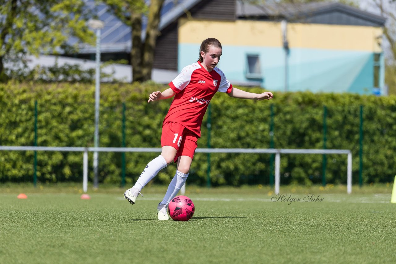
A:
<svg viewBox="0 0 396 264">
<path fill-rule="evenodd" d="M 184 67 L 169 87 L 176 95 L 164 123 L 180 123 L 198 137 L 201 137 L 202 119 L 213 95 L 217 91 L 230 93 L 232 90 L 219 68 L 208 72 L 199 61 Z"/>
</svg>

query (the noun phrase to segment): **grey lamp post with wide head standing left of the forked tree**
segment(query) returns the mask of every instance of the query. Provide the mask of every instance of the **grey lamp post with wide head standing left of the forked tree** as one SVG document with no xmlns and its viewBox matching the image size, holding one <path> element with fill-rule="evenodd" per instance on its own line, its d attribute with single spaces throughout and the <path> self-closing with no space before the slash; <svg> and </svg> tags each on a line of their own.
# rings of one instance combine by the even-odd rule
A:
<svg viewBox="0 0 396 264">
<path fill-rule="evenodd" d="M 101 29 L 104 23 L 100 20 L 90 19 L 88 26 L 96 30 L 96 70 L 95 70 L 95 135 L 93 137 L 94 147 L 99 146 L 99 101 L 100 101 L 100 41 Z M 93 188 L 98 188 L 98 152 L 93 152 Z"/>
</svg>

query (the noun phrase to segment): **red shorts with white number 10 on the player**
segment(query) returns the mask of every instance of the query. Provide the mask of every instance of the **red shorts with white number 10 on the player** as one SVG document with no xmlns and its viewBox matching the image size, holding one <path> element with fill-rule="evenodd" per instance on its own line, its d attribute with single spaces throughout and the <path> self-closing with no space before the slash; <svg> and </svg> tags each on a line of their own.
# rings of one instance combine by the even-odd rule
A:
<svg viewBox="0 0 396 264">
<path fill-rule="evenodd" d="M 162 125 L 161 146 L 171 146 L 177 150 L 175 162 L 180 156 L 194 158 L 198 136 L 176 122 Z"/>
</svg>

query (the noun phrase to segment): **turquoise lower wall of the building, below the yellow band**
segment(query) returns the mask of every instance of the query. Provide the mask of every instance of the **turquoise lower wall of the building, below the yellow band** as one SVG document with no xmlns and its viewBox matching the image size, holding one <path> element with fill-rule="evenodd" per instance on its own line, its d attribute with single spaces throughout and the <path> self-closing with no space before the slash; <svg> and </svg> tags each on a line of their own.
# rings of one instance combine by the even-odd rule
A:
<svg viewBox="0 0 396 264">
<path fill-rule="evenodd" d="M 199 45 L 179 44 L 179 71 L 196 62 L 198 54 Z M 246 78 L 247 54 L 259 55 L 261 79 Z M 380 66 L 380 87 L 384 87 L 383 55 Z M 285 50 L 282 47 L 223 45 L 218 67 L 231 83 L 254 81 L 270 91 L 285 91 Z M 287 67 L 287 91 L 373 93 L 374 53 L 370 51 L 291 48 Z"/>
</svg>

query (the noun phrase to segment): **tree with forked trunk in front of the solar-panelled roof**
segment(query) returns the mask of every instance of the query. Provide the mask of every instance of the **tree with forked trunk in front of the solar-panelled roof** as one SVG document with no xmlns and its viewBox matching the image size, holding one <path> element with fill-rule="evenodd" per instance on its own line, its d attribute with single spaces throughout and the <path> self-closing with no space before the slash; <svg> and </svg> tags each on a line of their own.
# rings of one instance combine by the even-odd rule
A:
<svg viewBox="0 0 396 264">
<path fill-rule="evenodd" d="M 151 79 L 154 62 L 154 50 L 160 34 L 160 11 L 165 0 L 151 0 L 146 5 L 144 0 L 103 0 L 110 11 L 125 25 L 131 27 L 132 46 L 132 82 L 144 82 Z M 147 17 L 147 26 L 142 38 L 142 19 Z"/>
</svg>

